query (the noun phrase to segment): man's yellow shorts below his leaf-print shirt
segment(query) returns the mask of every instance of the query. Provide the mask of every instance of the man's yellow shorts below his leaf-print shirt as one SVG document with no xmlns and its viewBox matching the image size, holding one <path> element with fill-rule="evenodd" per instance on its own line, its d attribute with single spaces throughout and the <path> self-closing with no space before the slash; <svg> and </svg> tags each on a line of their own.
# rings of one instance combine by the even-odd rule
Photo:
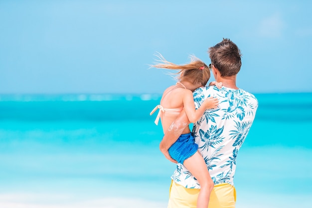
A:
<svg viewBox="0 0 312 208">
<path fill-rule="evenodd" d="M 200 189 L 186 189 L 171 181 L 167 208 L 196 208 Z M 236 191 L 230 184 L 215 185 L 208 208 L 235 208 Z"/>
</svg>

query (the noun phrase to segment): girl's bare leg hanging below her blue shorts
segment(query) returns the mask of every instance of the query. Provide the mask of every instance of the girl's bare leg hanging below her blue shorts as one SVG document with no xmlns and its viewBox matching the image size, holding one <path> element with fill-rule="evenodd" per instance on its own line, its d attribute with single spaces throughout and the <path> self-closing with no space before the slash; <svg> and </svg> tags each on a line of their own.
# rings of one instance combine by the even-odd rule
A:
<svg viewBox="0 0 312 208">
<path fill-rule="evenodd" d="M 214 184 L 204 159 L 199 152 L 196 152 L 190 158 L 186 159 L 183 165 L 197 179 L 200 185 L 197 208 L 208 208 L 210 193 Z"/>
</svg>

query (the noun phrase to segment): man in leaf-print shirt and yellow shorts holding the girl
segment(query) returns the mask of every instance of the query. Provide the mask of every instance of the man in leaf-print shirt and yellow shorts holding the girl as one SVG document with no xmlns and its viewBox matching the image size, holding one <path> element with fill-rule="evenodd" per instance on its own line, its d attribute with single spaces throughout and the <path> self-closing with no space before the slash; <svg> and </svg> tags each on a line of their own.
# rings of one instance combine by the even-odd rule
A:
<svg viewBox="0 0 312 208">
<path fill-rule="evenodd" d="M 223 38 L 208 52 L 213 76 L 223 86 L 221 89 L 201 87 L 194 91 L 196 108 L 210 96 L 218 98 L 219 106 L 206 110 L 203 117 L 194 123 L 192 134 L 214 182 L 208 208 L 235 208 L 233 177 L 236 156 L 253 123 L 258 101 L 254 95 L 236 86 L 241 52 L 234 42 Z M 189 121 L 182 111 L 159 145 L 160 151 L 171 162 L 175 161 L 169 156 L 168 149 L 187 125 Z M 200 189 L 196 179 L 179 163 L 171 179 L 168 208 L 196 208 Z"/>
</svg>

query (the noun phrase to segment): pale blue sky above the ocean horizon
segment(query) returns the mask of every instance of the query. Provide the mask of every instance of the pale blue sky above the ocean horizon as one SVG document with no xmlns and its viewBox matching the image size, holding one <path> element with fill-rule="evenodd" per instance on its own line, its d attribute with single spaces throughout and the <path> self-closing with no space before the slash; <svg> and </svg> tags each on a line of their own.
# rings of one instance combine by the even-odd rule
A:
<svg viewBox="0 0 312 208">
<path fill-rule="evenodd" d="M 156 51 L 182 64 L 233 40 L 237 85 L 312 92 L 312 1 L 1 0 L 0 93 L 161 93 Z"/>
</svg>

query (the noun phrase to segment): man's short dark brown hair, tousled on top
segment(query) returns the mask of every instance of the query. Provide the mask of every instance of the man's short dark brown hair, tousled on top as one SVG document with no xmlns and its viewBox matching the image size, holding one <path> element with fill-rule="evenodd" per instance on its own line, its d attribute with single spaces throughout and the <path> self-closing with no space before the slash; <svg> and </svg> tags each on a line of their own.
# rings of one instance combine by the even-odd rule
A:
<svg viewBox="0 0 312 208">
<path fill-rule="evenodd" d="M 236 75 L 242 65 L 241 51 L 237 45 L 228 38 L 208 49 L 211 64 L 220 72 L 221 76 Z"/>
</svg>

